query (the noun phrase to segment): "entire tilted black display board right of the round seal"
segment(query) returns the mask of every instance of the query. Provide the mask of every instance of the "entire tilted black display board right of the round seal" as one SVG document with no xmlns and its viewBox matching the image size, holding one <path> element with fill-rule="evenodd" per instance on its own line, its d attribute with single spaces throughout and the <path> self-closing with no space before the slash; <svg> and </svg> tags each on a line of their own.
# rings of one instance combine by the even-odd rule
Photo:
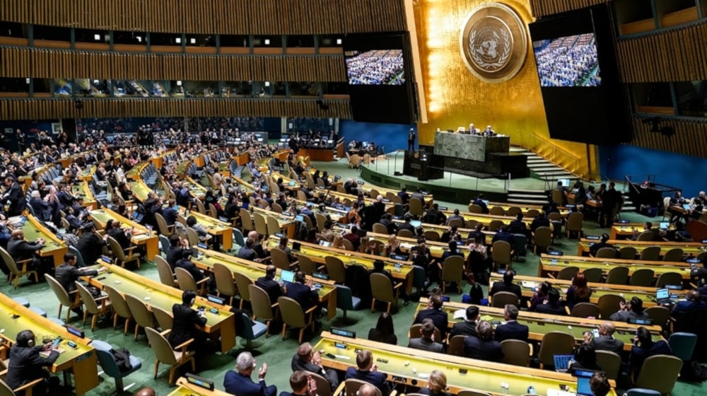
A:
<svg viewBox="0 0 707 396">
<path fill-rule="evenodd" d="M 550 137 L 613 146 L 630 140 L 609 5 L 528 25 Z"/>
</svg>

